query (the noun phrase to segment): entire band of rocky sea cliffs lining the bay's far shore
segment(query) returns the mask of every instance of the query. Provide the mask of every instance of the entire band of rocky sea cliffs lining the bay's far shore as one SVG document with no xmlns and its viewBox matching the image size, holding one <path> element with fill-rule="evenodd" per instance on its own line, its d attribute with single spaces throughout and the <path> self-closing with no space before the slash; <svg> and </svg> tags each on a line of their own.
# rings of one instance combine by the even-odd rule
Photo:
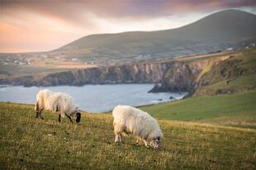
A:
<svg viewBox="0 0 256 170">
<path fill-rule="evenodd" d="M 192 92 L 201 74 L 223 58 L 195 62 L 150 62 L 116 67 L 93 67 L 47 76 L 25 76 L 0 80 L 0 84 L 25 86 L 158 83 L 150 92 Z M 207 79 L 208 80 L 208 79 Z"/>
</svg>

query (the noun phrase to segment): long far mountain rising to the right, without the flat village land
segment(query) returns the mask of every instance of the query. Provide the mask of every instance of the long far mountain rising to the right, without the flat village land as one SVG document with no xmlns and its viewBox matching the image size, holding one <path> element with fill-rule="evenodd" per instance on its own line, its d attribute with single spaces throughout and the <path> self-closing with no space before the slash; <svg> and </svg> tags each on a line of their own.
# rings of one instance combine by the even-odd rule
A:
<svg viewBox="0 0 256 170">
<path fill-rule="evenodd" d="M 163 59 L 248 46 L 256 41 L 255 28 L 254 14 L 226 10 L 177 29 L 92 34 L 50 54 L 97 65 Z"/>
</svg>

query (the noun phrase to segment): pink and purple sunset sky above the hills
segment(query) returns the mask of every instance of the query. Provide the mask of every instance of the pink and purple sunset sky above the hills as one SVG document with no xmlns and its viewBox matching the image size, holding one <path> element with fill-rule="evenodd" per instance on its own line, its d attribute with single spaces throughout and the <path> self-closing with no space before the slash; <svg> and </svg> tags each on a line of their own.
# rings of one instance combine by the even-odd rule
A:
<svg viewBox="0 0 256 170">
<path fill-rule="evenodd" d="M 0 53 L 50 51 L 88 34 L 166 30 L 255 0 L 0 0 Z"/>
</svg>

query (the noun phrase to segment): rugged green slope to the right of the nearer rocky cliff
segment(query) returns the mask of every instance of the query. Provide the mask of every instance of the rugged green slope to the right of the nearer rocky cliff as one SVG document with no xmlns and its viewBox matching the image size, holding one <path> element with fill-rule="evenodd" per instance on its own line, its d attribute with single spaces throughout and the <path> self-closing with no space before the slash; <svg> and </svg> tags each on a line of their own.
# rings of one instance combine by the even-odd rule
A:
<svg viewBox="0 0 256 170">
<path fill-rule="evenodd" d="M 197 78 L 197 84 L 200 85 L 195 90 L 194 96 L 255 90 L 256 49 L 234 53 L 229 59 L 215 66 L 207 65 Z"/>
</svg>

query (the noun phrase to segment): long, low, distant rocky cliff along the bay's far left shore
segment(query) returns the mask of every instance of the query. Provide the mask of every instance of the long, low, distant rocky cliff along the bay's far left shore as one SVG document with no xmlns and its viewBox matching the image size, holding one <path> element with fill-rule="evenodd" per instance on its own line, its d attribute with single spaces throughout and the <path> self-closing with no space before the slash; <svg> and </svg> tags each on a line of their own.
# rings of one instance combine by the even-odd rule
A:
<svg viewBox="0 0 256 170">
<path fill-rule="evenodd" d="M 64 71 L 47 76 L 24 76 L 0 80 L 0 84 L 25 86 L 87 85 L 116 83 L 155 83 L 164 75 L 168 63 L 140 63 L 116 67 L 94 67 Z"/>
</svg>

